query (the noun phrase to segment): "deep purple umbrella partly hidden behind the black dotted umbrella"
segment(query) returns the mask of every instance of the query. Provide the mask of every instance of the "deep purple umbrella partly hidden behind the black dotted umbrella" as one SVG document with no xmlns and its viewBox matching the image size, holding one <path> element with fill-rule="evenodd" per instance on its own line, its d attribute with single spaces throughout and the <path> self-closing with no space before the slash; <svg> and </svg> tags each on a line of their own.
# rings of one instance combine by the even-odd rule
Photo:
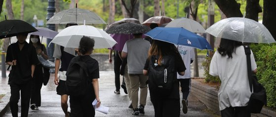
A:
<svg viewBox="0 0 276 117">
<path fill-rule="evenodd" d="M 117 41 L 117 44 L 113 46 L 114 50 L 122 51 L 124 43 L 127 40 L 133 39 L 133 35 L 125 35 L 125 34 L 112 34 L 111 37 Z"/>
</svg>

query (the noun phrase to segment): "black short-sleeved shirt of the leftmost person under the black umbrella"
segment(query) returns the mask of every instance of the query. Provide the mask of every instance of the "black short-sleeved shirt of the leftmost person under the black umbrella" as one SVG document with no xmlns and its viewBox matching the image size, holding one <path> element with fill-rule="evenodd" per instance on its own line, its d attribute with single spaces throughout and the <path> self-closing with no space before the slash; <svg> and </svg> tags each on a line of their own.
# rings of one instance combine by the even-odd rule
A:
<svg viewBox="0 0 276 117">
<path fill-rule="evenodd" d="M 29 81 L 32 77 L 32 65 L 39 63 L 37 51 L 34 46 L 24 42 L 22 50 L 19 49 L 18 41 L 12 43 L 7 48 L 6 62 L 16 61 L 16 66 L 11 67 L 9 74 L 9 83 L 25 83 Z"/>
</svg>

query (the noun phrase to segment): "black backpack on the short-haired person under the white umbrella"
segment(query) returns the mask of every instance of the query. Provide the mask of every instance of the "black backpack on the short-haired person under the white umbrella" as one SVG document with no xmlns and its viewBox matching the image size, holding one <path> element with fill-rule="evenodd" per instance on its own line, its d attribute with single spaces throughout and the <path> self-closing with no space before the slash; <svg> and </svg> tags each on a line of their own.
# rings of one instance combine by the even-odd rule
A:
<svg viewBox="0 0 276 117">
<path fill-rule="evenodd" d="M 69 66 L 66 73 L 66 91 L 71 96 L 81 96 L 87 93 L 89 73 L 86 63 L 80 59 Z"/>
</svg>

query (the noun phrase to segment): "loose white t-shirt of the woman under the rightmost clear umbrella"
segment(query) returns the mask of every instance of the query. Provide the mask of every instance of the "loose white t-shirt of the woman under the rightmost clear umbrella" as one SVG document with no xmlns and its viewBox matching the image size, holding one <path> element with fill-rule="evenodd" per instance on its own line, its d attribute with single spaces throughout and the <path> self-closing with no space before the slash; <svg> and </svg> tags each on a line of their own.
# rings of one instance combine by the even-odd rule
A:
<svg viewBox="0 0 276 117">
<path fill-rule="evenodd" d="M 218 92 L 220 111 L 227 107 L 247 106 L 251 92 L 247 75 L 246 55 L 243 46 L 236 48 L 232 53 L 233 58 L 221 56 L 215 52 L 209 74 L 219 76 L 221 86 Z M 257 65 L 251 51 L 251 70 L 257 69 Z"/>
</svg>

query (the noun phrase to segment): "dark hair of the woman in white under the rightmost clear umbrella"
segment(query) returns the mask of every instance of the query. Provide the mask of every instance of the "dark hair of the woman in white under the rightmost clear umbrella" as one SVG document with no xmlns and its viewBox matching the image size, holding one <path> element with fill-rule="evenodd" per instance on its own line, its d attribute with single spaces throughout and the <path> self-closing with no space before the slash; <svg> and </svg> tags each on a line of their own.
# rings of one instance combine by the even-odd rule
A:
<svg viewBox="0 0 276 117">
<path fill-rule="evenodd" d="M 230 40 L 230 39 L 221 39 L 218 52 L 222 55 L 228 55 L 229 58 L 233 58 L 232 53 L 235 51 L 236 47 L 243 45 L 242 42 Z"/>
</svg>

